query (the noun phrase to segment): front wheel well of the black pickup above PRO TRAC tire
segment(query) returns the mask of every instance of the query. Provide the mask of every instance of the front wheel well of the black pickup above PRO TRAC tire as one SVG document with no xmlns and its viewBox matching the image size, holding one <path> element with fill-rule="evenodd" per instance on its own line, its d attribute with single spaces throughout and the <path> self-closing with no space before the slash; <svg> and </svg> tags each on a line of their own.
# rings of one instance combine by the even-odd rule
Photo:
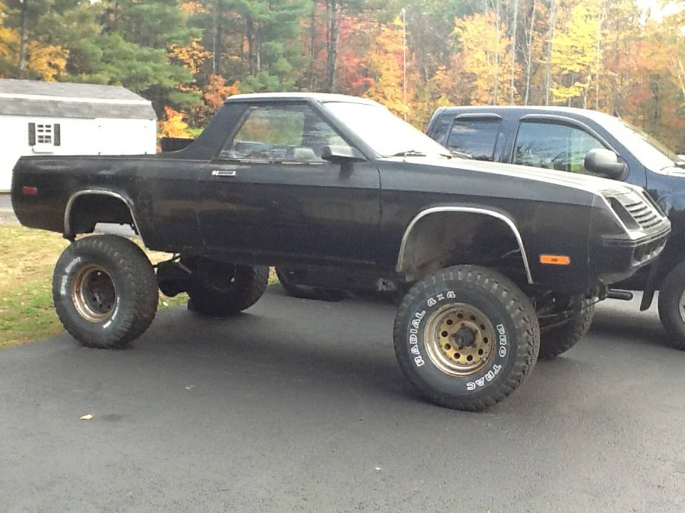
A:
<svg viewBox="0 0 685 513">
<path fill-rule="evenodd" d="M 531 282 L 515 228 L 500 217 L 477 212 L 436 212 L 410 224 L 402 239 L 397 271 L 416 280 L 445 267 L 475 264 Z"/>
</svg>

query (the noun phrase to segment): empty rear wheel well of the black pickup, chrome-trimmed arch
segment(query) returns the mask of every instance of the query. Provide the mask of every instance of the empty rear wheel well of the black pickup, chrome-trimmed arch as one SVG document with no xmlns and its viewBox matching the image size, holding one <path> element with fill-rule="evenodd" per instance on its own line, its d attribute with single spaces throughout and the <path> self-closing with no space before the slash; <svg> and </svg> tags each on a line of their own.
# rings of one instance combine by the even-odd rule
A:
<svg viewBox="0 0 685 513">
<path fill-rule="evenodd" d="M 91 233 L 98 223 L 130 224 L 136 229 L 131 209 L 123 197 L 111 194 L 88 193 L 74 197 L 67 205 L 64 233 Z"/>
</svg>

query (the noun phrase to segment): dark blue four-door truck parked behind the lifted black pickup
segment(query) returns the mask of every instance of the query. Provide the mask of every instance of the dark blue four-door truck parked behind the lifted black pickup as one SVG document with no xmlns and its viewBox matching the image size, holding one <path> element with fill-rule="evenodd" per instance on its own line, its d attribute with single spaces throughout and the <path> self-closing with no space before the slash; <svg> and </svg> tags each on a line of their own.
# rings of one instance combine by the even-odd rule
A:
<svg viewBox="0 0 685 513">
<path fill-rule="evenodd" d="M 477 160 L 609 177 L 644 187 L 673 225 L 661 257 L 609 297 L 644 291 L 646 310 L 659 290 L 659 317 L 674 346 L 685 348 L 685 162 L 619 118 L 559 107 L 448 107 L 432 117 L 428 135 Z M 634 212 L 640 217 L 640 212 Z"/>
</svg>

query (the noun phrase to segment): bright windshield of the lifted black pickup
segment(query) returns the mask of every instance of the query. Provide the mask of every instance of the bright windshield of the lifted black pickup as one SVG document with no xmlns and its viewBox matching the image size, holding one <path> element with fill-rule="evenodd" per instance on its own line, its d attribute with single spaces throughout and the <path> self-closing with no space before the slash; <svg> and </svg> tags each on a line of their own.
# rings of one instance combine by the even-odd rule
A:
<svg viewBox="0 0 685 513">
<path fill-rule="evenodd" d="M 451 157 L 450 150 L 397 118 L 382 105 L 329 102 L 336 118 L 383 157 L 393 155 Z"/>
</svg>

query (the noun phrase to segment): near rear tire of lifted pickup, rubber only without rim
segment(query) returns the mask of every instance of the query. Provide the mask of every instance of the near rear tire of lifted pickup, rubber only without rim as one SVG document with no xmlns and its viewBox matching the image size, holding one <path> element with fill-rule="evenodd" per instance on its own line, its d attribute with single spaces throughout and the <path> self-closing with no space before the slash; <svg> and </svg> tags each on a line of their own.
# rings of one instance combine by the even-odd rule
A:
<svg viewBox="0 0 685 513">
<path fill-rule="evenodd" d="M 76 282 L 88 269 L 102 269 L 116 291 L 110 313 L 97 321 L 79 313 L 77 306 L 80 289 Z M 136 244 L 114 235 L 93 235 L 72 242 L 62 252 L 53 274 L 52 296 L 62 326 L 83 346 L 123 348 L 155 318 L 157 279 Z"/>
</svg>

